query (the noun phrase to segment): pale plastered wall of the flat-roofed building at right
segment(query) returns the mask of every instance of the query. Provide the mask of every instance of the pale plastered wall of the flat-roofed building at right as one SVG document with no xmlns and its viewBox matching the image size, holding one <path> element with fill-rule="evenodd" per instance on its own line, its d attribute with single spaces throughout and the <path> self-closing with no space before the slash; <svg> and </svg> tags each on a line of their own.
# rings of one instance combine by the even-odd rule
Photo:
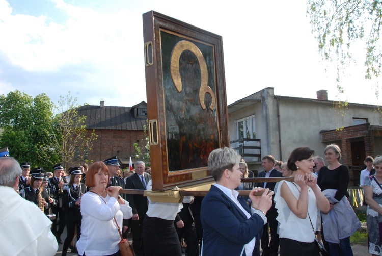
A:
<svg viewBox="0 0 382 256">
<path fill-rule="evenodd" d="M 242 100 L 246 99 L 261 99 L 261 102 L 254 101 L 252 105 L 229 114 L 230 140 L 237 139 L 236 120 L 255 115 L 256 138 L 261 139 L 261 155 L 270 154 L 284 162 L 288 160 L 293 149 L 299 146 L 313 148 L 316 155 L 323 156 L 326 143 L 322 143 L 320 131 L 352 126 L 353 118 L 367 118 L 371 125 L 382 126 L 379 112 L 374 111 L 371 105 L 349 103 L 347 108 L 339 109 L 334 108 L 332 101 L 275 97 L 273 88 L 265 88 Z M 381 146 L 377 146 L 378 148 Z M 252 163 L 252 169 L 261 171 L 262 167 L 260 163 Z"/>
</svg>

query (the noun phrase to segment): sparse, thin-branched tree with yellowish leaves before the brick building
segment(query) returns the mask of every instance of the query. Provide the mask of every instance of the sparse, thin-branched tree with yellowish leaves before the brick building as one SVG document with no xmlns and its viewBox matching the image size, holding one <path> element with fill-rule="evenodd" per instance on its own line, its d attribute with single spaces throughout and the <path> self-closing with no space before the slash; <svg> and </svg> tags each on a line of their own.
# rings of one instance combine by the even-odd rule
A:
<svg viewBox="0 0 382 256">
<path fill-rule="evenodd" d="M 75 162 L 87 162 L 87 154 L 92 149 L 93 142 L 97 139 L 94 130 L 86 129 L 86 116 L 79 116 L 77 108 L 77 98 L 70 95 L 60 96 L 58 106 L 56 106 L 56 116 L 51 123 L 52 131 L 49 143 L 39 145 L 41 149 L 40 158 L 54 165 L 50 153 L 54 152 L 64 165 L 64 168 L 76 165 Z"/>
</svg>

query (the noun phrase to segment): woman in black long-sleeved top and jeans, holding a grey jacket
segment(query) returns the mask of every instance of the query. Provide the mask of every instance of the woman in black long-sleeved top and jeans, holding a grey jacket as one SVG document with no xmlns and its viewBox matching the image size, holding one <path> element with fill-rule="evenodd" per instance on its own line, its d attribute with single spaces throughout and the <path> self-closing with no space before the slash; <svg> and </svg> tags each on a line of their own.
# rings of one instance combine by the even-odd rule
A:
<svg viewBox="0 0 382 256">
<path fill-rule="evenodd" d="M 346 196 L 349 197 L 347 186 L 349 184 L 349 169 L 347 166 L 340 164 L 341 149 L 336 144 L 330 144 L 325 148 L 325 159 L 328 166 L 324 166 L 318 172 L 317 185 L 321 191 L 326 189 L 337 189 L 334 196 L 337 201 Z M 330 210 L 334 208 L 336 203 L 330 203 Z M 323 235 L 325 230 L 322 231 Z M 324 236 L 323 236 L 324 237 Z M 353 255 L 350 246 L 350 237 L 340 239 L 339 244 L 328 243 L 330 255 Z"/>
</svg>

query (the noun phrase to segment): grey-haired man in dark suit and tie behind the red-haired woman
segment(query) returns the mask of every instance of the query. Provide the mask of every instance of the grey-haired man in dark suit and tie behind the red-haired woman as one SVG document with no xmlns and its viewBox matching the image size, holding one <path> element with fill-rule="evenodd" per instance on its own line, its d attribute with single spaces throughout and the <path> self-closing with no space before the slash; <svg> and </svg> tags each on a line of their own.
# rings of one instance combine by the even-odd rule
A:
<svg viewBox="0 0 382 256">
<path fill-rule="evenodd" d="M 145 163 L 142 161 L 135 162 L 135 173 L 126 178 L 126 189 L 143 189 L 146 190 L 147 183 L 151 180 L 151 175 L 145 172 Z M 143 195 L 127 194 L 127 201 L 132 209 L 131 231 L 132 246 L 135 255 L 144 255 L 142 241 L 142 222 L 145 218 L 148 202 L 147 197 Z"/>
</svg>

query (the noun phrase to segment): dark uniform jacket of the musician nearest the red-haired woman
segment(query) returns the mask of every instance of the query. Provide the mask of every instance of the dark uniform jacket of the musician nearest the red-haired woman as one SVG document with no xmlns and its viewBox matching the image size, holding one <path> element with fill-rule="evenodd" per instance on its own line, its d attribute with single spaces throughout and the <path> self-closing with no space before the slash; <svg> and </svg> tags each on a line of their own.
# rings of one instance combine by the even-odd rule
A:
<svg viewBox="0 0 382 256">
<path fill-rule="evenodd" d="M 73 185 L 65 185 L 62 194 L 62 207 L 65 209 L 66 220 L 80 220 L 81 208 L 75 204 L 86 193 L 85 184 L 81 183 L 80 187 L 74 188 Z"/>
</svg>

